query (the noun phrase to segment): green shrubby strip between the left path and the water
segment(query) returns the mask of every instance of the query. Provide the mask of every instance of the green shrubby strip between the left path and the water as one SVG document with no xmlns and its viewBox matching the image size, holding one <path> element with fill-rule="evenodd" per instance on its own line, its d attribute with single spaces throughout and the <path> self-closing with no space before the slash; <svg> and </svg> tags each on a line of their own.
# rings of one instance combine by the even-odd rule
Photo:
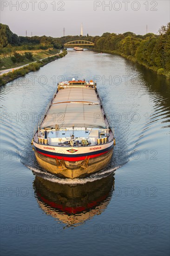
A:
<svg viewBox="0 0 170 256">
<path fill-rule="evenodd" d="M 66 54 L 67 54 L 67 51 L 63 50 L 63 52 L 60 54 L 57 54 L 52 57 L 48 57 L 42 61 L 36 61 L 34 63 L 27 65 L 26 67 L 21 67 L 17 70 L 14 70 L 13 72 L 3 74 L 0 76 L 0 86 L 5 85 L 8 82 L 13 81 L 21 76 L 25 76 L 25 74 L 28 74 L 29 72 L 37 71 L 37 70 L 39 70 L 40 67 L 43 67 L 52 61 L 60 59 L 60 58 L 64 57 Z"/>
</svg>

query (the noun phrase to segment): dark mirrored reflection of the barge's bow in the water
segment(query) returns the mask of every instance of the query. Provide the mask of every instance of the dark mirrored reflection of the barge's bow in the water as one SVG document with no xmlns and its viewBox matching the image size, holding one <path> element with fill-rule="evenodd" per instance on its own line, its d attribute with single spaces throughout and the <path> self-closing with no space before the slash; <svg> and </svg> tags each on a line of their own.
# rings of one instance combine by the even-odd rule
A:
<svg viewBox="0 0 170 256">
<path fill-rule="evenodd" d="M 101 214 L 114 190 L 113 174 L 85 184 L 70 186 L 35 177 L 33 187 L 40 208 L 66 224 L 77 226 Z"/>
</svg>

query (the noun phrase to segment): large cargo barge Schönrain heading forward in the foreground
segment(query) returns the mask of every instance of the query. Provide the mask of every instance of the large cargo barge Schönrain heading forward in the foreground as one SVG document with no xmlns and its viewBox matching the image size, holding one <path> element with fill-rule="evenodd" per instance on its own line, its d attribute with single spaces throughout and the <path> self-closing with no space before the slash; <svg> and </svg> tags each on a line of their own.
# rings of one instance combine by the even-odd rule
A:
<svg viewBox="0 0 170 256">
<path fill-rule="evenodd" d="M 94 81 L 63 81 L 35 129 L 39 165 L 63 178 L 81 178 L 111 161 L 115 138 Z"/>
</svg>

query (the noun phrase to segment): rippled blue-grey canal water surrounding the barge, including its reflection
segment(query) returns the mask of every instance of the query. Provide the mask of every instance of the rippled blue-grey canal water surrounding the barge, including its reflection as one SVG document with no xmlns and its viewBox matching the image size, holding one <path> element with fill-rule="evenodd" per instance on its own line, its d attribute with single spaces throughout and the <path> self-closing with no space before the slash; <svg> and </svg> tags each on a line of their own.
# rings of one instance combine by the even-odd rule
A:
<svg viewBox="0 0 170 256">
<path fill-rule="evenodd" d="M 116 146 L 100 173 L 41 169 L 34 127 L 62 80 L 96 80 Z M 1 255 L 169 255 L 170 80 L 118 55 L 68 54 L 0 88 Z"/>
</svg>

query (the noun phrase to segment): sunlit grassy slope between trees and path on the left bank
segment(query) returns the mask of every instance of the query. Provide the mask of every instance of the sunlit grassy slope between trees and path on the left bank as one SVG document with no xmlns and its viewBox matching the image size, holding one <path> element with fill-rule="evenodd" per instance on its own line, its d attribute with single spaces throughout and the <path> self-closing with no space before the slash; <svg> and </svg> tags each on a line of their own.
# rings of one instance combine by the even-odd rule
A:
<svg viewBox="0 0 170 256">
<path fill-rule="evenodd" d="M 16 48 L 16 47 L 15 47 Z M 26 65 L 30 62 L 33 61 L 38 61 L 44 58 L 47 58 L 50 55 L 58 54 L 59 50 L 54 49 L 54 48 L 49 48 L 46 50 L 26 50 L 26 51 L 21 51 L 21 50 L 16 50 L 16 53 L 20 54 L 22 58 L 20 58 L 16 63 L 13 63 L 11 58 L 13 56 L 13 53 L 11 54 L 6 54 L 6 55 L 0 55 L 0 70 L 8 69 L 8 68 L 14 68 L 14 67 L 20 67 L 23 65 Z M 27 59 L 25 57 L 25 53 L 31 53 L 32 58 Z"/>
</svg>

